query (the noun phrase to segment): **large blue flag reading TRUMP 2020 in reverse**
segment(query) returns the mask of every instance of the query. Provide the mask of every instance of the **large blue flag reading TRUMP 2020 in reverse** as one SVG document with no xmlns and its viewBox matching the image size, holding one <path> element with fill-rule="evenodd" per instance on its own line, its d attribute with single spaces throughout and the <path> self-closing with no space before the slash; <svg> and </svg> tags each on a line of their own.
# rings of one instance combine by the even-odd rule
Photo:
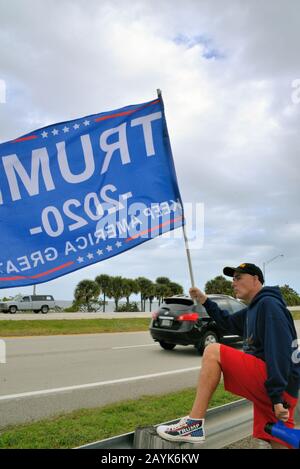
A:
<svg viewBox="0 0 300 469">
<path fill-rule="evenodd" d="M 2 143 L 0 160 L 0 288 L 66 275 L 184 223 L 161 98 Z"/>
</svg>

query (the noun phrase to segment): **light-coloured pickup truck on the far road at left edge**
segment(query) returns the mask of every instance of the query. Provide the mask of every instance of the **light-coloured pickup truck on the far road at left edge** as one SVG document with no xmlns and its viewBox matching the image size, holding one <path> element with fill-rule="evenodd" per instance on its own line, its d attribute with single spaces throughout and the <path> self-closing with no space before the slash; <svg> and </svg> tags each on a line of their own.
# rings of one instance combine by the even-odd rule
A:
<svg viewBox="0 0 300 469">
<path fill-rule="evenodd" d="M 17 311 L 33 311 L 47 314 L 49 309 L 55 308 L 52 295 L 23 296 L 21 300 L 3 301 L 0 303 L 0 312 L 15 314 Z"/>
</svg>

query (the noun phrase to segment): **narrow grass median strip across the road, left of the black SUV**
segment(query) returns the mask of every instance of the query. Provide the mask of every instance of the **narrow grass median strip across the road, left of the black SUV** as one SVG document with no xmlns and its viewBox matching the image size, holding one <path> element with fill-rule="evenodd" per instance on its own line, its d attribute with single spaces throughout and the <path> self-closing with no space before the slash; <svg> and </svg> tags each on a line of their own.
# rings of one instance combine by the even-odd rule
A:
<svg viewBox="0 0 300 469">
<path fill-rule="evenodd" d="M 0 321 L 0 337 L 146 331 L 150 318 Z"/>
</svg>

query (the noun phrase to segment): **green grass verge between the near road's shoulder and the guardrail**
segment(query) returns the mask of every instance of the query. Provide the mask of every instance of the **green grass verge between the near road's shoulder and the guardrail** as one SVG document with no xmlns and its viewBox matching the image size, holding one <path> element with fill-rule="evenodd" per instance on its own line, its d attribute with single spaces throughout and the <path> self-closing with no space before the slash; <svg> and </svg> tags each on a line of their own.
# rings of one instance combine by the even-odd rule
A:
<svg viewBox="0 0 300 469">
<path fill-rule="evenodd" d="M 132 432 L 136 427 L 157 425 L 187 415 L 195 389 L 162 396 L 145 396 L 95 409 L 18 425 L 1 430 L 0 448 L 75 448 L 93 441 Z M 210 407 L 239 399 L 220 384 Z"/>
</svg>

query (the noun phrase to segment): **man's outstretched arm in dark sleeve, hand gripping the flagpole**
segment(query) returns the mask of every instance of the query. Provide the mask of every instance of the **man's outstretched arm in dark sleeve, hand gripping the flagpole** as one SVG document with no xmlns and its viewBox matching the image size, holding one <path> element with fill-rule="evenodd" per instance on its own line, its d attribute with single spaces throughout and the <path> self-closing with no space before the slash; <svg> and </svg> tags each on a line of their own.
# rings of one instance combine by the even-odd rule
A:
<svg viewBox="0 0 300 469">
<path fill-rule="evenodd" d="M 247 308 L 243 308 L 237 313 L 229 314 L 228 311 L 220 309 L 217 303 L 210 300 L 199 288 L 190 288 L 189 292 L 191 297 L 199 301 L 199 303 L 204 306 L 209 316 L 223 329 L 226 329 L 232 334 L 243 336 Z"/>
</svg>

